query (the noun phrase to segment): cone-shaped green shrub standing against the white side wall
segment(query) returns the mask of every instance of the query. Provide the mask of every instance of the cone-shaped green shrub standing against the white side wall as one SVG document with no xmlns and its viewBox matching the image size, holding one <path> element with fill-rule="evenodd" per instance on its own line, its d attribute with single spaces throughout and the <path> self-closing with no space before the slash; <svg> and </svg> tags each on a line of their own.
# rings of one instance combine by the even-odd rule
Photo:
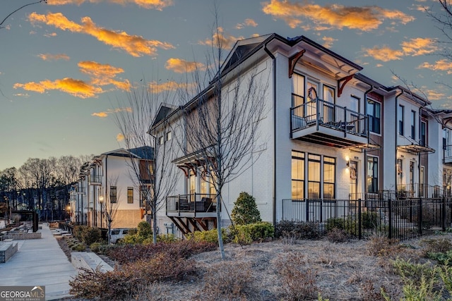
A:
<svg viewBox="0 0 452 301">
<path fill-rule="evenodd" d="M 256 199 L 246 192 L 240 192 L 239 197 L 234 202 L 231 219 L 236 225 L 262 221 L 261 212 L 259 212 L 256 205 Z"/>
</svg>

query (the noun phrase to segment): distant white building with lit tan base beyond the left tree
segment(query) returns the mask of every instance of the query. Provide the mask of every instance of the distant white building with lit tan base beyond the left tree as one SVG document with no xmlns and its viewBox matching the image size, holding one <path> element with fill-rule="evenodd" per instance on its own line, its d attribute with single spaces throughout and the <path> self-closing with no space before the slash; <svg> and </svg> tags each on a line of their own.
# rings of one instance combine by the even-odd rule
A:
<svg viewBox="0 0 452 301">
<path fill-rule="evenodd" d="M 138 166 L 139 177 L 132 164 Z M 71 221 L 107 228 L 107 216 L 111 216 L 112 228 L 136 228 L 150 214 L 141 191 L 151 184 L 152 165 L 151 147 L 116 149 L 94 156 L 82 167 L 78 185 L 70 192 Z"/>
</svg>

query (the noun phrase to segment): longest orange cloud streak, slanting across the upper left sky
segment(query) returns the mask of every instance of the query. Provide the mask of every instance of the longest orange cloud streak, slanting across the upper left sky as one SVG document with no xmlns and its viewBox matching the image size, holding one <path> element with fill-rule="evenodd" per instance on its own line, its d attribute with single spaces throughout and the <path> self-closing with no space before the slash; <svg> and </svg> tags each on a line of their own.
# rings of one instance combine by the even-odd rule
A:
<svg viewBox="0 0 452 301">
<path fill-rule="evenodd" d="M 91 35 L 100 42 L 104 42 L 113 48 L 126 51 L 131 56 L 155 56 L 157 55 L 157 48 L 174 48 L 172 44 L 167 42 L 144 39 L 138 35 L 128 35 L 127 32 L 117 32 L 97 27 L 90 17 L 83 17 L 81 19 L 81 25 L 69 20 L 62 13 L 48 13 L 47 15 L 30 13 L 28 20 L 30 20 L 30 23 L 33 25 L 36 23 L 44 23 L 57 27 L 60 30 L 69 30 L 71 32 Z"/>
</svg>

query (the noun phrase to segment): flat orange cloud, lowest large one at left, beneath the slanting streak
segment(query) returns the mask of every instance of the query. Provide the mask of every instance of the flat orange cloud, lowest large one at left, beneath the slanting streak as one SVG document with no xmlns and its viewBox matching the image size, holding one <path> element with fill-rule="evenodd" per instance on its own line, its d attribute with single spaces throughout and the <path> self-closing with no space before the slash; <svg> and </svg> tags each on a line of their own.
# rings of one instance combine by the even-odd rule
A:
<svg viewBox="0 0 452 301">
<path fill-rule="evenodd" d="M 23 90 L 44 93 L 47 90 L 60 90 L 75 97 L 88 98 L 96 97 L 102 93 L 102 88 L 89 85 L 83 80 L 74 80 L 73 78 L 63 78 L 61 80 L 42 80 L 41 82 L 28 82 L 26 84 L 16 83 L 14 89 L 19 87 Z"/>
</svg>

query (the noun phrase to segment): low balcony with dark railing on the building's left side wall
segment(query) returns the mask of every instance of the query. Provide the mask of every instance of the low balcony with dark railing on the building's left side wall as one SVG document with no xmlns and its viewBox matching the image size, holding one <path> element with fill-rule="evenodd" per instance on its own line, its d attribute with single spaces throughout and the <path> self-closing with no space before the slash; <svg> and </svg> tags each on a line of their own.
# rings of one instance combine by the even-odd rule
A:
<svg viewBox="0 0 452 301">
<path fill-rule="evenodd" d="M 167 216 L 213 218 L 216 216 L 215 195 L 195 193 L 167 197 Z"/>
</svg>

